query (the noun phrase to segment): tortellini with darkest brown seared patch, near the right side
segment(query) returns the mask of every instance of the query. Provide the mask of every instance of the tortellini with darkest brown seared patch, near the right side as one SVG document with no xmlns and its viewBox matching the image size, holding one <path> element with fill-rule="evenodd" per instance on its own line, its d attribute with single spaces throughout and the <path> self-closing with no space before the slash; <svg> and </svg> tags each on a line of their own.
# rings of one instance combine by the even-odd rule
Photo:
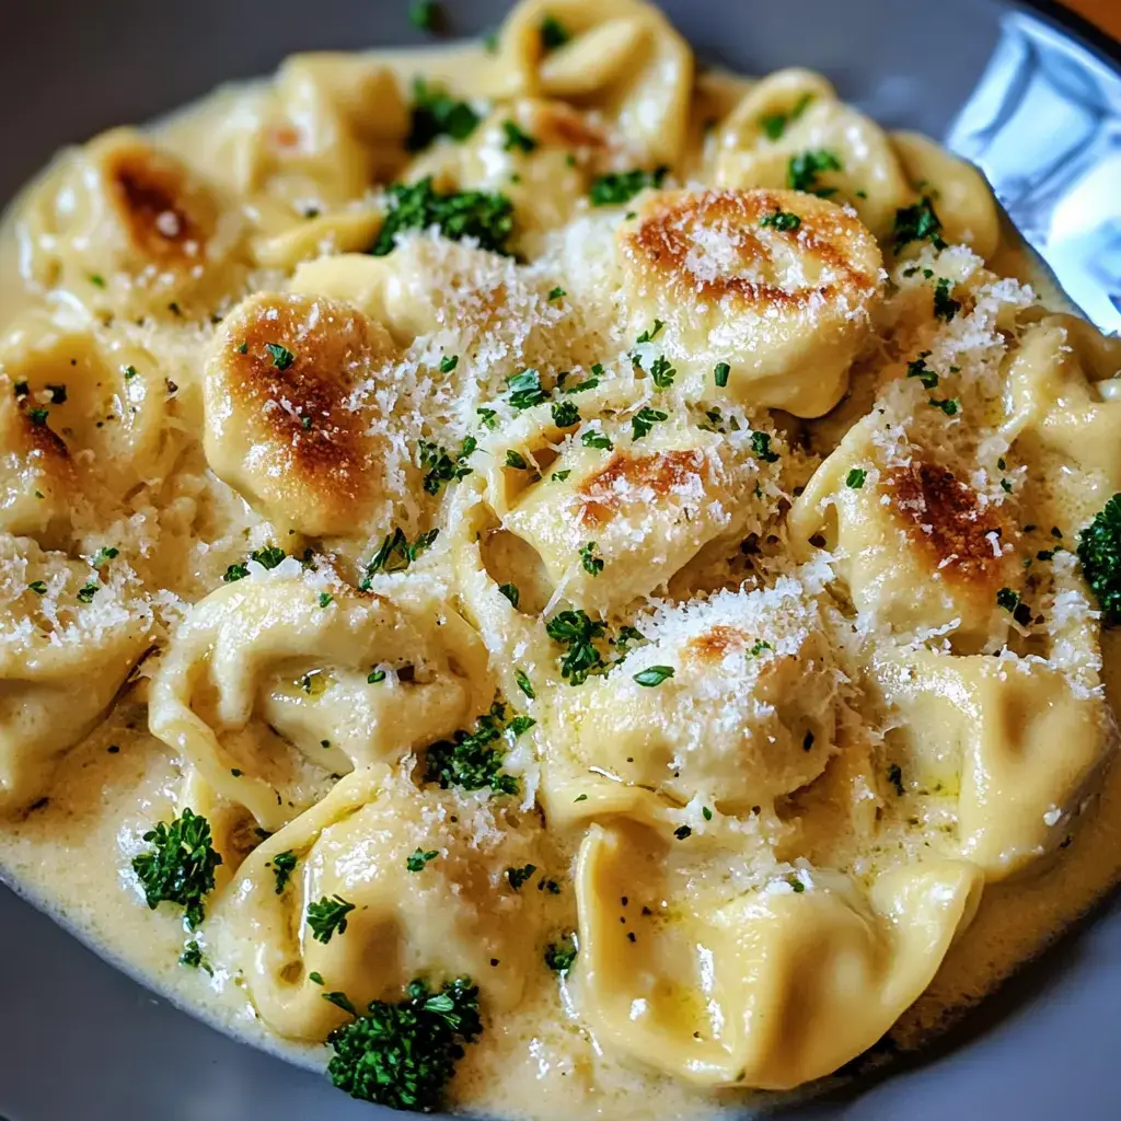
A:
<svg viewBox="0 0 1121 1121">
<path fill-rule="evenodd" d="M 822 534 L 870 619 L 896 630 L 946 628 L 983 646 L 1010 618 L 997 593 L 1019 571 L 1013 527 L 936 455 L 896 448 L 890 427 L 873 411 L 849 430 L 796 499 L 791 532 L 803 548 Z"/>
</svg>

